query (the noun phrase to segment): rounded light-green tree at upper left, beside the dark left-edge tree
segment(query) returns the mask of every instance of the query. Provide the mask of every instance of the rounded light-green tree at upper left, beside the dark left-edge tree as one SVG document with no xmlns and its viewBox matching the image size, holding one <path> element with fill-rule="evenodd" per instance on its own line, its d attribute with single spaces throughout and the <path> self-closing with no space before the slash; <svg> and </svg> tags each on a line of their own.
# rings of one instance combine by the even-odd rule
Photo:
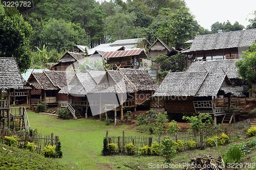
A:
<svg viewBox="0 0 256 170">
<path fill-rule="evenodd" d="M 76 44 L 84 44 L 85 34 L 79 24 L 52 18 L 44 23 L 39 37 L 50 49 L 61 52 L 71 50 Z"/>
</svg>

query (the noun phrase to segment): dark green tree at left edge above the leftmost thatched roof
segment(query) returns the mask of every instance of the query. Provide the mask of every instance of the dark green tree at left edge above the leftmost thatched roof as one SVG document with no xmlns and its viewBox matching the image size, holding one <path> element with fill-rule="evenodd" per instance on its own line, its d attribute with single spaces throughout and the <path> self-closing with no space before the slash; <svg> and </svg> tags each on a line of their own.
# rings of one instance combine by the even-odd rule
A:
<svg viewBox="0 0 256 170">
<path fill-rule="evenodd" d="M 32 27 L 14 8 L 0 5 L 0 56 L 15 57 L 20 72 L 31 64 L 29 36 Z"/>
</svg>

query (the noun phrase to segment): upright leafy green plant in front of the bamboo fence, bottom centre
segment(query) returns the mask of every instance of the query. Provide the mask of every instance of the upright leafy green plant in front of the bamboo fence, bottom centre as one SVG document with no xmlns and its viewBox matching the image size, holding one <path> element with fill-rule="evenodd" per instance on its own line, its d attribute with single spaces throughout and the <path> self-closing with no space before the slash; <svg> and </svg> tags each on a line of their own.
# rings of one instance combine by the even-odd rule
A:
<svg viewBox="0 0 256 170">
<path fill-rule="evenodd" d="M 161 139 L 160 147 L 161 155 L 165 158 L 165 163 L 171 163 L 172 159 L 177 156 L 175 143 L 170 137 L 163 137 Z"/>
</svg>

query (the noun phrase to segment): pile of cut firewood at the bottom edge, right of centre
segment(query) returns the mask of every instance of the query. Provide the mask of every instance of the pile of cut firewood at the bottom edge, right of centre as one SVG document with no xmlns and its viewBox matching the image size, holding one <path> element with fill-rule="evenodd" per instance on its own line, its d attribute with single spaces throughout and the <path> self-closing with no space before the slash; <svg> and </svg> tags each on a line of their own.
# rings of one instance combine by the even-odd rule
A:
<svg viewBox="0 0 256 170">
<path fill-rule="evenodd" d="M 210 155 L 202 155 L 190 160 L 183 170 L 223 170 L 224 163 L 221 156 L 217 159 Z"/>
</svg>

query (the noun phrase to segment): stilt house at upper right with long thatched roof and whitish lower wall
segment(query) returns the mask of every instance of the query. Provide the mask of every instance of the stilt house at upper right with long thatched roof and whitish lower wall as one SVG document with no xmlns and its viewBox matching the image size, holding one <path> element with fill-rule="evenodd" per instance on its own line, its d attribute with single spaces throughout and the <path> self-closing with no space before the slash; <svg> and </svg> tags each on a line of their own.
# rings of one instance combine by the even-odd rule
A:
<svg viewBox="0 0 256 170">
<path fill-rule="evenodd" d="M 256 29 L 197 35 L 182 53 L 188 56 L 188 65 L 198 60 L 240 59 L 255 40 Z"/>
</svg>

